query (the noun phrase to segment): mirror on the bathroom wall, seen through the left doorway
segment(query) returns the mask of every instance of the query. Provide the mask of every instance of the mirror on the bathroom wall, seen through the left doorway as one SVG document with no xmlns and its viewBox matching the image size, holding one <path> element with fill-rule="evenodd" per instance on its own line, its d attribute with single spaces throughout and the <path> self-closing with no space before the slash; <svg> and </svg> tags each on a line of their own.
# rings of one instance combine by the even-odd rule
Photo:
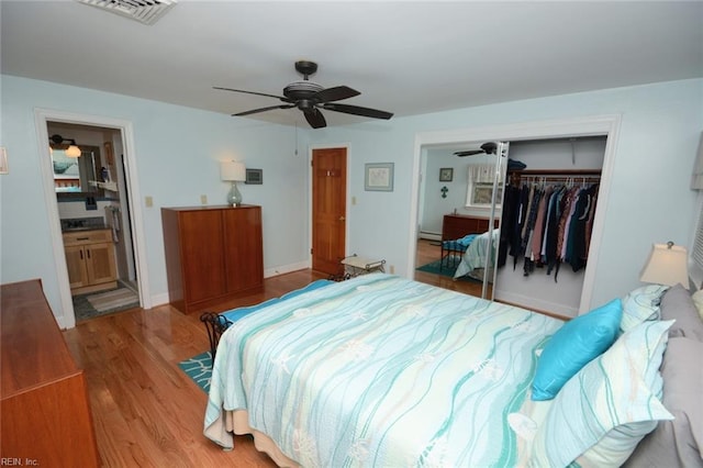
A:
<svg viewBox="0 0 703 468">
<path fill-rule="evenodd" d="M 62 198 L 86 196 L 102 197 L 104 191 L 98 186 L 100 179 L 100 148 L 80 146 L 79 157 L 66 156 L 66 149 L 56 145 L 51 149 L 54 168 L 54 187 Z"/>
</svg>

